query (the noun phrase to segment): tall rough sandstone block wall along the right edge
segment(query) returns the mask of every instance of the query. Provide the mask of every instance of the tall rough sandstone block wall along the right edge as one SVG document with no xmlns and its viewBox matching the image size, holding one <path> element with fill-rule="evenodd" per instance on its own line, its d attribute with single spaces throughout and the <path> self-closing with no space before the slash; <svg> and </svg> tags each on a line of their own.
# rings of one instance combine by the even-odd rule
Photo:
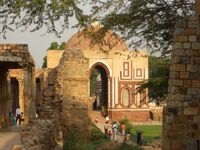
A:
<svg viewBox="0 0 200 150">
<path fill-rule="evenodd" d="M 169 97 L 163 118 L 163 150 L 199 149 L 199 21 L 199 16 L 190 16 L 175 27 Z"/>
</svg>

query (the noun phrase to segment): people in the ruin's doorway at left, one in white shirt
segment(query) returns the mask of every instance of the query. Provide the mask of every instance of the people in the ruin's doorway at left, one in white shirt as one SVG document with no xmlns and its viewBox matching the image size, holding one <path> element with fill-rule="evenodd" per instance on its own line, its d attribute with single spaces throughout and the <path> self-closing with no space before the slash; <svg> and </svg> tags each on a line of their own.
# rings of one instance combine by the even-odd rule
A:
<svg viewBox="0 0 200 150">
<path fill-rule="evenodd" d="M 10 123 L 11 125 L 21 125 L 21 121 L 23 121 L 23 113 L 20 110 L 20 107 L 18 106 L 16 108 L 15 113 L 13 112 L 9 112 L 9 119 L 10 119 Z"/>
</svg>

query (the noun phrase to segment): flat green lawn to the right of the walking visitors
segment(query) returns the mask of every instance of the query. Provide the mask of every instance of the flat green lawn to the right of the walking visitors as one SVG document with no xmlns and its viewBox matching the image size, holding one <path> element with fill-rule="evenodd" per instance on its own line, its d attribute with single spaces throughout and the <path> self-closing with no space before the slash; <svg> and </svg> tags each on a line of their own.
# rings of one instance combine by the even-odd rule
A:
<svg viewBox="0 0 200 150">
<path fill-rule="evenodd" d="M 161 138 L 162 125 L 133 125 L 131 133 L 133 134 L 133 141 L 135 142 L 137 131 L 142 132 L 143 143 L 149 143 L 154 139 Z"/>
</svg>

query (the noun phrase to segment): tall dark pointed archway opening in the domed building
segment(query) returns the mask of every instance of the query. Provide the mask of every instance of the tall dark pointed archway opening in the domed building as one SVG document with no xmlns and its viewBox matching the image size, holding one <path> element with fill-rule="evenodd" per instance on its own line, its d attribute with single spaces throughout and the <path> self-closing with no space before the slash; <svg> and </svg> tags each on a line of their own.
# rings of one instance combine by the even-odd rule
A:
<svg viewBox="0 0 200 150">
<path fill-rule="evenodd" d="M 96 72 L 96 75 L 94 73 Z M 95 81 L 92 82 L 92 77 Z M 107 66 L 101 62 L 97 62 L 90 67 L 90 96 L 95 94 L 93 109 L 97 109 L 107 115 L 109 104 L 109 77 L 110 72 Z M 92 89 L 94 88 L 94 89 Z"/>
</svg>

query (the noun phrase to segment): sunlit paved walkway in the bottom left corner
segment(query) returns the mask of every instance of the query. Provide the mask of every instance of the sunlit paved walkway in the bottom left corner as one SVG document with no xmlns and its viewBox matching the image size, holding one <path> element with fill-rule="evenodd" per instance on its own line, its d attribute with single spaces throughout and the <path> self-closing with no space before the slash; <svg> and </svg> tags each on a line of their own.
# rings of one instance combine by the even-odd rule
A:
<svg viewBox="0 0 200 150">
<path fill-rule="evenodd" d="M 0 150 L 12 150 L 14 145 L 21 144 L 21 126 L 0 130 Z"/>
</svg>

